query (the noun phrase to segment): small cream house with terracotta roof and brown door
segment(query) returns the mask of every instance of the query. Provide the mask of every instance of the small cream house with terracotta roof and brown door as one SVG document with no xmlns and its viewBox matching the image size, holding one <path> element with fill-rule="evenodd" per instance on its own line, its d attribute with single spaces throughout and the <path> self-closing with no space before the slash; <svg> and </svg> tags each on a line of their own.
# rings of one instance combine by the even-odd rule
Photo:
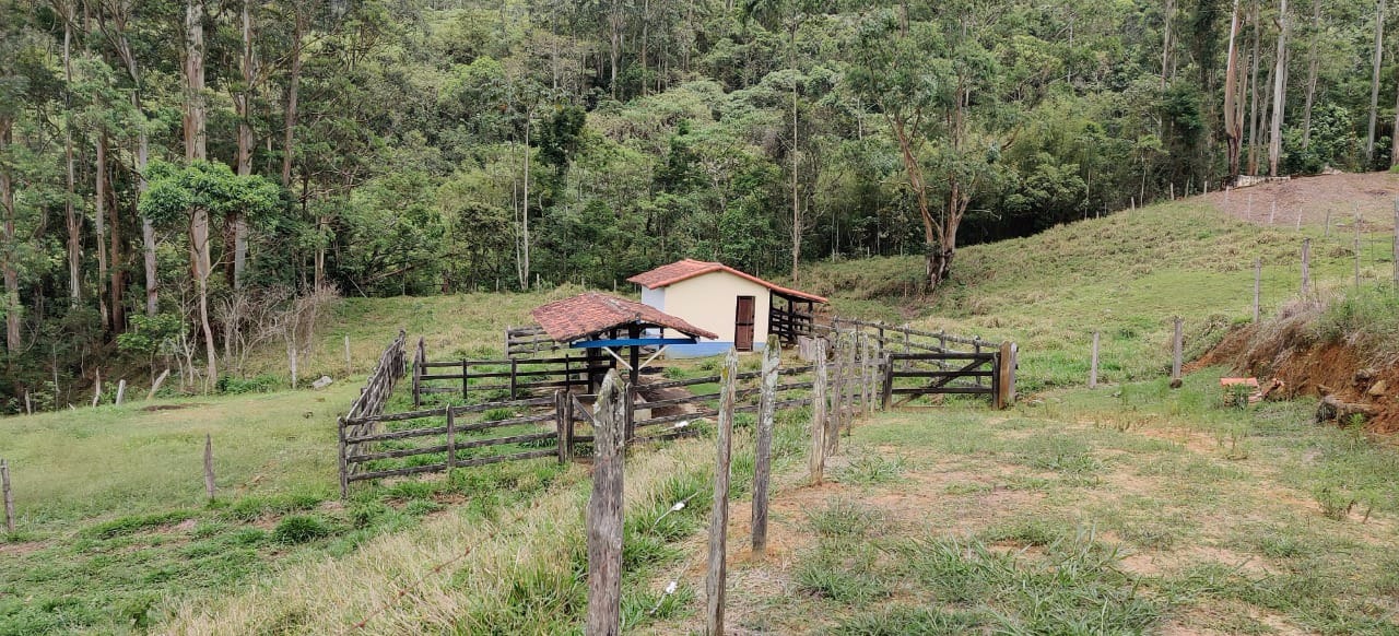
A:
<svg viewBox="0 0 1399 636">
<path fill-rule="evenodd" d="M 810 333 L 811 313 L 825 298 L 739 271 L 723 263 L 684 259 L 627 278 L 641 285 L 641 302 L 718 334 L 672 355 L 715 355 L 729 347 L 761 349 L 768 334 L 786 342 Z"/>
</svg>

